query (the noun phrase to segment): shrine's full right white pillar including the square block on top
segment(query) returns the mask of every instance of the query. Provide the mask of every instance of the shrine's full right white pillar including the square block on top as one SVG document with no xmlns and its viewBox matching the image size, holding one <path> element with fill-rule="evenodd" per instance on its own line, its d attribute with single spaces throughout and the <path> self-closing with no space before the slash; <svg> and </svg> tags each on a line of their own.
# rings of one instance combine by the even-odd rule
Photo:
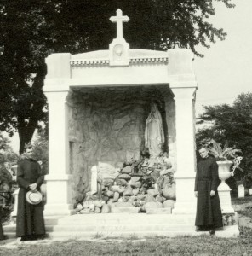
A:
<svg viewBox="0 0 252 256">
<path fill-rule="evenodd" d="M 192 52 L 170 49 L 169 87 L 175 96 L 176 203 L 173 213 L 194 214 L 196 198 L 195 95 L 197 84 L 192 71 Z"/>
</svg>

